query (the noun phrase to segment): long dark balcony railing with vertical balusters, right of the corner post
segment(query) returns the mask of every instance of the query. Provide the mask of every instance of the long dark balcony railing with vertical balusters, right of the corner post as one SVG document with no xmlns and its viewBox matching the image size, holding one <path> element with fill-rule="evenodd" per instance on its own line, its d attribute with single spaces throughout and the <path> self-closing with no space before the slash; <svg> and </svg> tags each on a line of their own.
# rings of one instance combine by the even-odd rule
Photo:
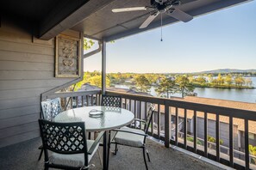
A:
<svg viewBox="0 0 256 170">
<path fill-rule="evenodd" d="M 211 160 L 221 162 L 229 167 L 254 169 L 254 165 L 251 164 L 251 160 L 254 159 L 253 155 L 249 154 L 249 122 L 256 121 L 256 112 L 249 110 L 241 110 L 223 106 L 212 106 L 200 103 L 193 103 L 184 100 L 164 99 L 152 96 L 143 96 L 137 94 L 123 94 L 113 91 L 107 91 L 109 95 L 120 95 L 123 100 L 123 107 L 134 112 L 135 118 L 146 118 L 147 106 L 149 103 L 153 103 L 156 106 L 156 112 L 153 115 L 152 126 L 150 127 L 150 135 L 164 141 L 165 147 L 169 147 L 170 144 L 176 145 L 180 148 L 190 150 L 198 155 L 203 155 Z M 164 109 L 161 109 L 163 108 Z M 188 112 L 192 112 L 193 118 L 190 119 L 190 127 L 188 127 Z M 203 114 L 203 140 L 202 145 L 199 146 L 194 140 L 192 145 L 187 140 L 190 135 L 193 139 L 197 139 L 197 114 Z M 164 116 L 163 116 L 164 115 Z M 215 117 L 215 143 L 214 145 L 208 141 L 209 134 L 209 115 Z M 164 119 L 161 119 L 164 117 Z M 220 137 L 220 117 L 228 118 L 228 147 L 221 146 Z M 180 119 L 182 118 L 182 119 Z M 244 152 L 234 150 L 234 118 L 240 118 L 244 121 Z M 201 117 L 202 119 L 202 117 Z M 183 128 L 180 127 L 180 123 L 183 121 Z M 174 122 L 174 123 L 173 123 Z M 172 124 L 173 123 L 173 124 Z M 174 128 L 173 128 L 174 126 Z M 188 128 L 192 131 L 192 134 L 188 133 Z M 183 129 L 181 131 L 181 129 Z M 183 137 L 179 137 L 180 132 L 183 132 Z M 202 134 L 201 134 L 202 135 Z M 188 144 L 189 143 L 189 144 Z M 213 148 L 209 152 L 209 145 Z M 228 149 L 227 149 L 228 148 Z M 222 156 L 221 149 L 226 149 L 228 156 Z M 234 156 L 235 155 L 235 156 Z M 234 157 L 237 158 L 240 155 L 240 161 L 234 161 Z"/>
</svg>

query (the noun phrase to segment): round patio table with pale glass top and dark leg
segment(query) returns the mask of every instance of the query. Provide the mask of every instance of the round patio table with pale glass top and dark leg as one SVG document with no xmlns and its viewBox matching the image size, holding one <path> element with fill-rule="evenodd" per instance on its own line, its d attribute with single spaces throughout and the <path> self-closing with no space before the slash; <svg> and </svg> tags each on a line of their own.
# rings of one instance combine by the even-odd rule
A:
<svg viewBox="0 0 256 170">
<path fill-rule="evenodd" d="M 92 110 L 97 110 L 102 114 L 91 116 Z M 111 106 L 78 107 L 60 112 L 54 118 L 54 122 L 85 122 L 85 130 L 89 132 L 105 131 L 103 135 L 103 169 L 109 168 L 109 131 L 130 124 L 133 120 L 133 112 Z"/>
</svg>

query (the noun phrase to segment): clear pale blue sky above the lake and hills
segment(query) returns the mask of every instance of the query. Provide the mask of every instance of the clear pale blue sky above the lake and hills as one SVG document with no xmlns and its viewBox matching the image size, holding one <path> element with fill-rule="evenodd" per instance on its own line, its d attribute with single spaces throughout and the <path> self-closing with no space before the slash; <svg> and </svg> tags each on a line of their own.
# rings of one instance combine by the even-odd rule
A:
<svg viewBox="0 0 256 170">
<path fill-rule="evenodd" d="M 256 69 L 256 1 L 107 43 L 107 73 Z M 84 71 L 101 70 L 101 52 Z"/>
</svg>

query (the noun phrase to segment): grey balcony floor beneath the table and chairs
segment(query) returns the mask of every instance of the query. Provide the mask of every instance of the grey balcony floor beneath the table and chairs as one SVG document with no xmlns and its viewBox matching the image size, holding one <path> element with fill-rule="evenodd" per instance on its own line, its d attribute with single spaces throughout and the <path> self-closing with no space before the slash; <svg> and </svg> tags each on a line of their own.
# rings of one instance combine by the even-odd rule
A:
<svg viewBox="0 0 256 170">
<path fill-rule="evenodd" d="M 40 150 L 38 149 L 40 145 L 41 138 L 35 138 L 28 142 L 18 143 L 0 149 L 0 169 L 43 169 L 43 156 L 41 161 L 37 161 L 40 155 Z M 220 169 L 204 161 L 197 160 L 190 155 L 185 155 L 178 150 L 166 149 L 162 144 L 150 139 L 147 139 L 147 148 L 151 158 L 151 162 L 147 164 L 149 169 Z M 91 163 L 96 165 L 96 168 L 93 169 L 101 169 L 97 154 Z M 117 155 L 110 154 L 109 169 L 146 169 L 142 149 L 119 146 Z"/>
</svg>

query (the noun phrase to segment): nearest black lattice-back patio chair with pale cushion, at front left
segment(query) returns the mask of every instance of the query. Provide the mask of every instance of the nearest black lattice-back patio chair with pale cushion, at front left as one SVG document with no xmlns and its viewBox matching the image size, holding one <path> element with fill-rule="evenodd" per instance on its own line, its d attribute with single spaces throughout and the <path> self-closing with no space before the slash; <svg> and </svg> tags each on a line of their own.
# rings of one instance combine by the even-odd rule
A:
<svg viewBox="0 0 256 170">
<path fill-rule="evenodd" d="M 103 132 L 95 141 L 86 139 L 84 122 L 57 123 L 39 119 L 45 169 L 88 169 Z"/>
</svg>

